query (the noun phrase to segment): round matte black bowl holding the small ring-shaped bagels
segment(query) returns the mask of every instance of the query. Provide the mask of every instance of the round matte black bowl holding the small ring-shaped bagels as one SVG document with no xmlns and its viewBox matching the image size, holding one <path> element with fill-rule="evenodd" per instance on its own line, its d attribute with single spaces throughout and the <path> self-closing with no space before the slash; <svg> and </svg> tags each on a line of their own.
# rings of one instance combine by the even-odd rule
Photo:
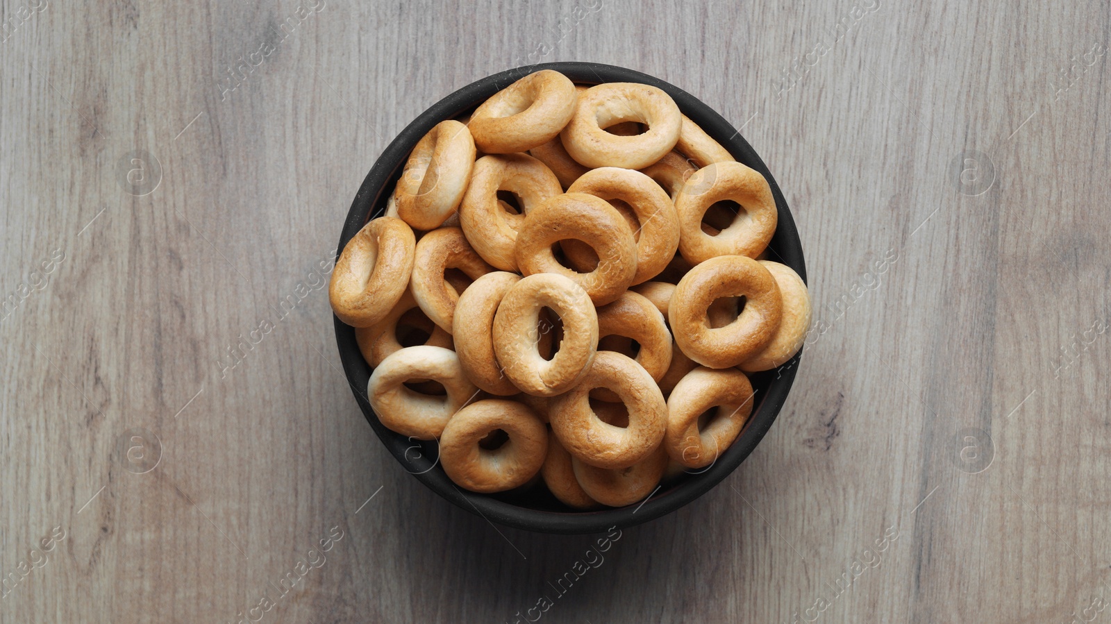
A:
<svg viewBox="0 0 1111 624">
<path fill-rule="evenodd" d="M 791 212 L 783 200 L 783 193 L 780 192 L 779 185 L 763 161 L 739 131 L 713 109 L 690 93 L 658 78 L 630 69 L 581 62 L 543 63 L 503 71 L 463 87 L 421 113 L 386 148 L 378 162 L 371 168 L 370 173 L 367 174 L 367 179 L 363 180 L 362 187 L 359 188 L 359 193 L 351 204 L 351 211 L 343 225 L 343 233 L 340 235 L 338 251 L 343 250 L 347 242 L 367 223 L 368 219 L 379 217 L 386 211 L 386 201 L 390 192 L 393 191 L 393 184 L 401 174 L 409 152 L 433 125 L 446 119 L 470 112 L 499 90 L 542 69 L 562 72 L 577 83 L 642 82 L 667 91 L 679 104 L 683 114 L 702 127 L 738 161 L 755 169 L 768 179 L 775 198 L 775 207 L 779 210 L 779 227 L 770 244 L 771 255 L 794 269 L 805 280 L 802 245 L 799 242 L 799 233 L 794 229 Z M 359 352 L 354 340 L 354 330 L 340 322 L 339 319 L 336 319 L 334 322 L 340 359 L 343 361 L 343 370 L 351 383 L 356 401 L 362 407 L 362 413 L 367 416 L 374 433 L 393 453 L 393 456 L 401 462 L 404 470 L 412 473 L 418 481 L 431 487 L 437 494 L 469 512 L 477 513 L 493 522 L 544 533 L 592 533 L 605 531 L 614 525 L 618 527 L 632 526 L 673 512 L 704 494 L 740 465 L 771 427 L 772 421 L 775 420 L 775 415 L 787 400 L 791 382 L 794 381 L 799 359 L 799 355 L 795 355 L 779 370 L 751 375 L 752 388 L 755 390 L 752 415 L 741 435 L 714 464 L 699 471 L 690 471 L 691 474 L 684 475 L 670 485 L 661 486 L 645 501 L 635 505 L 580 512 L 557 501 L 542 483 L 524 492 L 506 492 L 492 495 L 476 494 L 459 489 L 438 465 L 438 450 L 434 442 L 410 440 L 386 429 L 379 422 L 367 400 L 367 381 L 370 379 L 371 369 Z"/>
</svg>

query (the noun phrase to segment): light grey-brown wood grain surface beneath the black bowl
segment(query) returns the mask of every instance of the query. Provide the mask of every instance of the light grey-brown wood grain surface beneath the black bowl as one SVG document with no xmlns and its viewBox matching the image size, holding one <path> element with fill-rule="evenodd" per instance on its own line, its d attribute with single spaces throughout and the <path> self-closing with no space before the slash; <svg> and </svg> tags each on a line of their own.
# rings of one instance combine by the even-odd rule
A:
<svg viewBox="0 0 1111 624">
<path fill-rule="evenodd" d="M 1111 618 L 1109 29 L 1098 0 L 0 1 L 0 622 L 238 621 L 290 571 L 263 622 Z M 560 597 L 595 536 L 406 474 L 319 288 L 398 131 L 553 60 L 742 128 L 825 323 L 741 469 Z"/>
</svg>

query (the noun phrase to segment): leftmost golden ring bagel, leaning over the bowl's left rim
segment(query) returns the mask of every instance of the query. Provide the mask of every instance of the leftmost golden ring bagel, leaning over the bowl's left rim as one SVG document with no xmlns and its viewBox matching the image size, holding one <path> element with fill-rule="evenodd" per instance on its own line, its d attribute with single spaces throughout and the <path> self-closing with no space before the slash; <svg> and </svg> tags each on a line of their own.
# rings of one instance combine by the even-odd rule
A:
<svg viewBox="0 0 1111 624">
<path fill-rule="evenodd" d="M 401 300 L 412 273 L 417 239 L 400 219 L 369 221 L 336 261 L 328 299 L 340 321 L 369 328 Z"/>
</svg>

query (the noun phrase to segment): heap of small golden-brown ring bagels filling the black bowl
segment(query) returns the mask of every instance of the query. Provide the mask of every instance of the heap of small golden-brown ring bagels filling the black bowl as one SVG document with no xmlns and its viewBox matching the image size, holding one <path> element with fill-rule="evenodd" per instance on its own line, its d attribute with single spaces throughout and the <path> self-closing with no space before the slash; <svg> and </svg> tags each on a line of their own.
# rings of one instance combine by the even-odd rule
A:
<svg viewBox="0 0 1111 624">
<path fill-rule="evenodd" d="M 541 70 L 417 143 L 329 295 L 381 423 L 437 440 L 457 485 L 628 505 L 713 464 L 745 373 L 802 345 L 807 286 L 764 259 L 777 220 L 664 91 Z"/>
</svg>

